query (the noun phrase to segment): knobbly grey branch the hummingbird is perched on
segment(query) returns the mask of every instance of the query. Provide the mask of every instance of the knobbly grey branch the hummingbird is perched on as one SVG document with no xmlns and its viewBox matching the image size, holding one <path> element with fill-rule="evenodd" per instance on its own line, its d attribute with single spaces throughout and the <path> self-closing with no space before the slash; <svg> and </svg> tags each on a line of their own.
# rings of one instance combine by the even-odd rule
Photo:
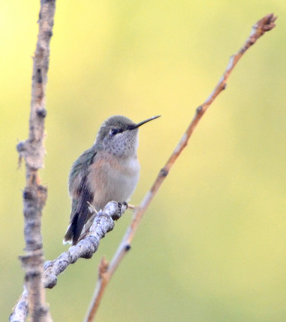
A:
<svg viewBox="0 0 286 322">
<path fill-rule="evenodd" d="M 114 220 L 117 220 L 127 209 L 127 204 L 109 202 L 102 211 L 97 213 L 91 225 L 88 235 L 77 245 L 70 247 L 53 261 L 45 262 L 43 273 L 44 287 L 52 289 L 57 284 L 57 276 L 62 273 L 69 264 L 75 263 L 79 258 L 91 258 L 99 247 L 100 239 L 114 228 Z M 28 315 L 27 291 L 18 299 L 10 322 L 24 321 Z"/>
</svg>

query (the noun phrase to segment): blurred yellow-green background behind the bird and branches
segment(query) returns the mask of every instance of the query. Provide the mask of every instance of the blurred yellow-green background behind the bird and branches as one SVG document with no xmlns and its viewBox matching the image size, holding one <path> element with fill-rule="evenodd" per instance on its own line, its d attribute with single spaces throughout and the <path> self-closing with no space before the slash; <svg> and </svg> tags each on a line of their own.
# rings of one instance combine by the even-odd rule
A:
<svg viewBox="0 0 286 322">
<path fill-rule="evenodd" d="M 0 312 L 22 292 L 22 189 L 15 145 L 28 135 L 39 1 L 0 12 Z M 69 222 L 67 176 L 103 120 L 139 122 L 138 204 L 217 83 L 229 56 L 263 15 L 277 27 L 242 58 L 145 214 L 114 275 L 98 321 L 285 321 L 286 4 L 254 1 L 58 1 L 47 87 L 43 213 L 46 260 Z M 127 212 L 91 260 L 47 290 L 54 321 L 82 321 L 98 263 L 131 219 Z"/>
</svg>

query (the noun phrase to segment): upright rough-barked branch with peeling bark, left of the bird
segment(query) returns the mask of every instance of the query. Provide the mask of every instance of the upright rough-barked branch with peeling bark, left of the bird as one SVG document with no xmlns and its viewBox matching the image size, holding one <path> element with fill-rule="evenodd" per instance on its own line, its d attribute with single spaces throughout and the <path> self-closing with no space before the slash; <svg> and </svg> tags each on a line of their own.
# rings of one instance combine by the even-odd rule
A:
<svg viewBox="0 0 286 322">
<path fill-rule="evenodd" d="M 44 118 L 45 91 L 49 68 L 50 40 L 52 37 L 55 0 L 41 1 L 39 13 L 39 33 L 33 57 L 32 100 L 29 120 L 29 137 L 17 145 L 19 163 L 22 158 L 26 166 L 26 186 L 24 199 L 24 237 L 26 255 L 20 256 L 25 269 L 25 286 L 31 321 L 52 321 L 45 304 L 42 274 L 44 270 L 43 244 L 41 235 L 42 209 L 47 198 L 47 188 L 40 184 L 38 170 L 44 163 Z M 16 307 L 24 307 L 17 302 Z M 21 315 L 10 316 L 10 321 L 24 321 Z"/>
</svg>

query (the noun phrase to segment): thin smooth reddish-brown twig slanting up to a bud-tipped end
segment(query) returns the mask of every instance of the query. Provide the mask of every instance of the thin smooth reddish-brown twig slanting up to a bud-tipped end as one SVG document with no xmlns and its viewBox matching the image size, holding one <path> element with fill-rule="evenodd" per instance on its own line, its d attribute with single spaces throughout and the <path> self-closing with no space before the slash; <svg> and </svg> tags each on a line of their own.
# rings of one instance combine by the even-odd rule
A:
<svg viewBox="0 0 286 322">
<path fill-rule="evenodd" d="M 108 285 L 108 282 L 109 282 L 110 278 L 112 277 L 113 273 L 115 272 L 115 270 L 117 269 L 119 263 L 121 262 L 121 260 L 123 259 L 123 257 L 127 253 L 127 251 L 130 249 L 130 243 L 134 237 L 135 232 L 137 231 L 138 225 L 141 221 L 143 214 L 145 213 L 149 204 L 153 200 L 159 187 L 161 186 L 161 184 L 163 183 L 163 181 L 167 177 L 167 175 L 168 175 L 171 167 L 174 165 L 176 159 L 181 154 L 183 149 L 186 147 L 188 140 L 191 137 L 198 122 L 203 117 L 206 110 L 209 108 L 209 106 L 214 101 L 214 99 L 218 96 L 218 94 L 225 89 L 226 81 L 227 81 L 230 73 L 232 72 L 234 66 L 239 61 L 239 59 L 242 57 L 244 52 L 248 48 L 250 48 L 256 42 L 256 40 L 258 38 L 260 38 L 266 31 L 272 30 L 275 27 L 275 20 L 276 19 L 277 19 L 277 17 L 275 17 L 274 14 L 268 14 L 265 17 L 263 17 L 261 20 L 259 20 L 253 26 L 250 36 L 247 38 L 243 47 L 236 54 L 231 56 L 229 63 L 227 65 L 222 77 L 220 78 L 217 85 L 215 86 L 214 90 L 211 92 L 211 94 L 205 100 L 205 102 L 196 109 L 195 116 L 194 116 L 193 120 L 191 121 L 189 127 L 187 128 L 186 132 L 183 134 L 180 142 L 176 146 L 175 150 L 171 154 L 171 156 L 168 159 L 165 166 L 159 172 L 154 184 L 152 185 L 151 189 L 148 191 L 148 193 L 143 198 L 141 204 L 135 209 L 134 219 L 131 222 L 129 228 L 127 229 L 122 241 L 120 242 L 119 247 L 113 256 L 113 259 L 110 262 L 110 265 L 108 266 L 107 270 L 99 276 L 87 316 L 84 320 L 85 322 L 92 322 L 93 321 L 96 311 L 99 307 L 101 298 L 102 298 L 104 291 L 106 289 L 106 286 Z"/>
</svg>

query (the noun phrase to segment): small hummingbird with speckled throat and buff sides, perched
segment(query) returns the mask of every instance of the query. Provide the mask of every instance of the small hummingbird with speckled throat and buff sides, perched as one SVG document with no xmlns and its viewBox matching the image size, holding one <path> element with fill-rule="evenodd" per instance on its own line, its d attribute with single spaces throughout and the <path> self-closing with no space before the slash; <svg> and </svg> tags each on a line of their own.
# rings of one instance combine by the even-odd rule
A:
<svg viewBox="0 0 286 322">
<path fill-rule="evenodd" d="M 134 123 L 114 115 L 103 122 L 93 146 L 77 158 L 70 170 L 72 210 L 64 244 L 77 244 L 83 228 L 89 230 L 94 216 L 89 207 L 98 212 L 110 201 L 129 201 L 139 179 L 138 128 L 159 116 Z"/>
</svg>

